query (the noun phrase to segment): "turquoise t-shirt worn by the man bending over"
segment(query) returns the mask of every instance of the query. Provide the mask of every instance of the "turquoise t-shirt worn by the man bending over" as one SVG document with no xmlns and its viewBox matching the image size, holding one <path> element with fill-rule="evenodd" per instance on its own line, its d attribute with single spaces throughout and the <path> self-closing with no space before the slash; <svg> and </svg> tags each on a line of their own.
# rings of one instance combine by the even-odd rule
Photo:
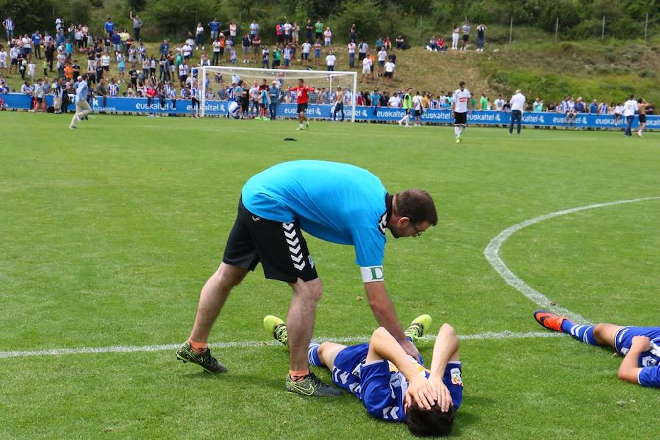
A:
<svg viewBox="0 0 660 440">
<path fill-rule="evenodd" d="M 382 270 L 391 196 L 367 170 L 319 160 L 284 162 L 253 175 L 242 200 L 257 216 L 298 220 L 315 237 L 353 245 L 360 267 Z"/>
</svg>

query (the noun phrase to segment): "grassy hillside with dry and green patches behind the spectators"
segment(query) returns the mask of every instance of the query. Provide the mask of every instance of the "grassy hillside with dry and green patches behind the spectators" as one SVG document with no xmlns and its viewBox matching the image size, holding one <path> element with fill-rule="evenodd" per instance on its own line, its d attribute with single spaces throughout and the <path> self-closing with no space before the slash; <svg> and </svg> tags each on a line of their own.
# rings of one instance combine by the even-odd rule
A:
<svg viewBox="0 0 660 440">
<path fill-rule="evenodd" d="M 645 96 L 651 102 L 660 102 L 660 92 L 655 87 L 660 71 L 660 37 L 647 44 L 638 40 L 554 44 L 554 36 L 523 28 L 516 30 L 516 40 L 509 46 L 508 34 L 504 38 L 501 28 L 494 26 L 492 32 L 494 42 L 490 44 L 487 40 L 484 53 L 449 51 L 441 55 L 421 47 L 399 51 L 397 78 L 389 86 L 380 79 L 360 83 L 360 90 L 378 86 L 394 91 L 413 86 L 437 94 L 441 90 L 454 90 L 457 82 L 463 79 L 475 95 L 486 92 L 491 99 L 498 93 L 510 94 L 516 88 L 522 88 L 529 100 L 539 96 L 546 102 L 556 101 L 565 94 L 573 94 L 576 98 L 583 96 L 587 100 L 624 100 L 631 93 Z M 148 53 L 157 53 L 158 44 L 147 46 Z M 334 49 L 338 57 L 337 70 L 348 70 L 346 49 L 343 46 Z M 240 50 L 238 52 L 238 67 L 261 66 L 241 63 L 242 54 Z M 84 57 L 80 61 L 85 69 Z M 293 67 L 300 69 L 298 64 Z M 356 71 L 360 73 L 361 65 L 358 67 Z M 110 76 L 116 76 L 115 66 Z M 18 89 L 20 77 L 12 75 L 9 83 Z"/>
</svg>

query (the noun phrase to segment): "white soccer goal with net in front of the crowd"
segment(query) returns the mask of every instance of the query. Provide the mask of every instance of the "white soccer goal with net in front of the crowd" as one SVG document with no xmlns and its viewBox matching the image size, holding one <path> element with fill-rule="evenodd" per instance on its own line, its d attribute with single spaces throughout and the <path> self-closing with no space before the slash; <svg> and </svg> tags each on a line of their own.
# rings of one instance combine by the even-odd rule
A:
<svg viewBox="0 0 660 440">
<path fill-rule="evenodd" d="M 230 86 L 234 82 L 243 80 L 244 86 L 250 88 L 254 82 L 271 86 L 273 80 L 280 84 L 280 100 L 286 102 L 284 96 L 289 87 L 295 87 L 298 79 L 302 78 L 306 86 L 314 87 L 319 91 L 316 102 L 310 104 L 334 104 L 337 86 L 341 86 L 344 92 L 343 104 L 350 108 L 350 120 L 355 122 L 356 90 L 358 88 L 358 74 L 356 72 L 325 72 L 307 71 L 293 69 L 251 69 L 248 67 L 226 67 L 226 66 L 202 66 L 195 68 L 199 76 L 199 88 L 201 89 L 201 115 L 205 116 L 207 108 L 207 94 L 211 92 L 214 98 L 218 98 L 220 89 Z M 211 90 L 209 90 L 211 88 Z M 323 98 L 323 99 L 322 99 Z M 324 102 L 321 102 L 323 100 Z M 292 101 L 295 104 L 295 100 Z M 348 113 L 348 112 L 347 112 Z"/>
</svg>

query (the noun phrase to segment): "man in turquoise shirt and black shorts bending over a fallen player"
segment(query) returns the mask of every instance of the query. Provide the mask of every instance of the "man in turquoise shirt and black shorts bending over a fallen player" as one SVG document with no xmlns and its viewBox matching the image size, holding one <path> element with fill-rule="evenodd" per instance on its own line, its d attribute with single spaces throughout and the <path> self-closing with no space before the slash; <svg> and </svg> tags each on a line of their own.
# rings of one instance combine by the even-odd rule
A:
<svg viewBox="0 0 660 440">
<path fill-rule="evenodd" d="M 418 358 L 385 290 L 385 230 L 393 237 L 419 236 L 437 222 L 436 206 L 426 191 L 407 189 L 390 195 L 376 175 L 353 165 L 296 160 L 253 175 L 242 189 L 222 263 L 202 289 L 193 329 L 176 356 L 210 373 L 226 371 L 209 352 L 209 333 L 232 288 L 261 263 L 266 278 L 288 282 L 293 289 L 287 317 L 290 371 L 286 391 L 339 394 L 310 373 L 307 363 L 323 287 L 302 235 L 305 231 L 354 246 L 376 321 L 407 354 Z"/>
</svg>

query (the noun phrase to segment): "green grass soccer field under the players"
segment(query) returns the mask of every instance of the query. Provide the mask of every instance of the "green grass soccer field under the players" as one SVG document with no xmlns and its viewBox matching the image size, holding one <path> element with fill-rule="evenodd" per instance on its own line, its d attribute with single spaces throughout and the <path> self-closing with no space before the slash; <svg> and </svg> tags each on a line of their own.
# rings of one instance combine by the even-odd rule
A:
<svg viewBox="0 0 660 440">
<path fill-rule="evenodd" d="M 411 437 L 353 396 L 284 393 L 288 356 L 261 320 L 286 315 L 290 288 L 260 267 L 211 333 L 230 371 L 209 375 L 174 356 L 243 183 L 301 158 L 362 166 L 390 193 L 433 195 L 438 226 L 414 239 L 388 234 L 384 267 L 404 327 L 429 313 L 431 335 L 448 322 L 463 338 L 453 436 L 656 436 L 659 391 L 618 381 L 611 350 L 545 331 L 532 299 L 592 323 L 660 325 L 660 135 L 469 128 L 455 144 L 451 127 L 312 122 L 295 131 L 294 121 L 103 115 L 68 125 L 0 115 L 1 438 Z M 484 255 L 510 226 L 615 201 L 634 202 L 543 218 L 501 243 L 527 296 Z M 366 340 L 376 321 L 353 248 L 306 237 L 325 286 L 315 339 Z M 430 359 L 432 340 L 420 351 Z"/>
</svg>

